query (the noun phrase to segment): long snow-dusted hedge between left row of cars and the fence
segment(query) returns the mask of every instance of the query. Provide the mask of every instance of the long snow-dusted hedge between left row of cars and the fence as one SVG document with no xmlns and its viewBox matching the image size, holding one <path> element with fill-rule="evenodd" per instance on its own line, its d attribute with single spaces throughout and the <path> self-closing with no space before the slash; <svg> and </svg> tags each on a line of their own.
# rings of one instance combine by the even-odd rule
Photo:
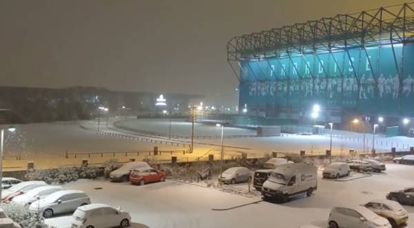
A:
<svg viewBox="0 0 414 228">
<path fill-rule="evenodd" d="M 97 167 L 60 167 L 57 169 L 29 170 L 26 180 L 43 180 L 48 184 L 64 184 L 84 179 L 95 179 L 101 174 Z"/>
</svg>

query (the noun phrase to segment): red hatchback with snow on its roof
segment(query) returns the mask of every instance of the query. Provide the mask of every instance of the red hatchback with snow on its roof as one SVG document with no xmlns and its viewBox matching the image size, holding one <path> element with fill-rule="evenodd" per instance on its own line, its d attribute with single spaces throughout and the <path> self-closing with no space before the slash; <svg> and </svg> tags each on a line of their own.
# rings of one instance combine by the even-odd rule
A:
<svg viewBox="0 0 414 228">
<path fill-rule="evenodd" d="M 154 168 L 142 167 L 134 169 L 130 174 L 131 184 L 144 185 L 152 182 L 160 182 L 166 180 L 166 173 L 158 171 Z"/>
</svg>

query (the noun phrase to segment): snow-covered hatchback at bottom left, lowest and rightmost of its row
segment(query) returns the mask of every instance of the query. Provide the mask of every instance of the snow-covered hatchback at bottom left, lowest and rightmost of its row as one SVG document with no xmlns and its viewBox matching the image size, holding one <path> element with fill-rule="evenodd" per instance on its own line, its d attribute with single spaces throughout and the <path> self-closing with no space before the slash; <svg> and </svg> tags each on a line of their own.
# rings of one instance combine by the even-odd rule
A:
<svg viewBox="0 0 414 228">
<path fill-rule="evenodd" d="M 78 207 L 72 215 L 72 228 L 129 227 L 131 216 L 126 211 L 104 204 Z"/>
</svg>

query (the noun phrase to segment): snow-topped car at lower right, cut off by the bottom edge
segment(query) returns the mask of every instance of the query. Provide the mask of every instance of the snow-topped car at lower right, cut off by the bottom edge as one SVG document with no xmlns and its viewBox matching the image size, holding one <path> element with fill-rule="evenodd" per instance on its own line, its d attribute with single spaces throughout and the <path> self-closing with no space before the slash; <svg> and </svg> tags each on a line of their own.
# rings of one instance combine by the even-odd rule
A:
<svg viewBox="0 0 414 228">
<path fill-rule="evenodd" d="M 390 222 L 361 206 L 334 207 L 329 213 L 329 228 L 391 228 Z"/>
</svg>

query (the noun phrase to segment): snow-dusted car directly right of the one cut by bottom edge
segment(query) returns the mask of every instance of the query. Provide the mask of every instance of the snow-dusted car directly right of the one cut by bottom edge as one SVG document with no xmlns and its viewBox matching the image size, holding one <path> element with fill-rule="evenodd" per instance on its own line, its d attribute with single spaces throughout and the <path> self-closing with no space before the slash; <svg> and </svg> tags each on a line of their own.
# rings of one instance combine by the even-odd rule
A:
<svg viewBox="0 0 414 228">
<path fill-rule="evenodd" d="M 399 227 L 408 221 L 406 209 L 392 200 L 371 200 L 361 206 L 370 209 L 378 216 L 386 218 L 393 228 Z"/>
</svg>

